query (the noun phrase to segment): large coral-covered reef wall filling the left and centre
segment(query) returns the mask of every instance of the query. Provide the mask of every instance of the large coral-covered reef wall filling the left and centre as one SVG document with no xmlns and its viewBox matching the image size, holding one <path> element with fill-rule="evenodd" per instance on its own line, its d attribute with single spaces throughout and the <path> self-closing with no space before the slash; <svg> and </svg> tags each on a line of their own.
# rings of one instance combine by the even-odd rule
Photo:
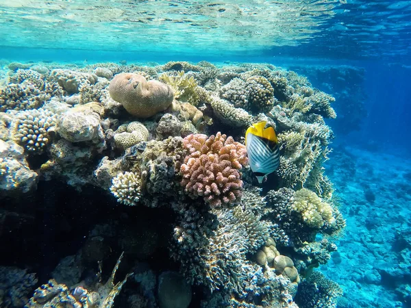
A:
<svg viewBox="0 0 411 308">
<path fill-rule="evenodd" d="M 122 307 L 334 305 L 338 286 L 309 276 L 345 227 L 324 169 L 334 97 L 271 64 L 4 67 L 3 257 L 45 284 L 0 268 L 1 307 L 112 307 L 124 281 L 101 283 L 101 268 L 121 251 Z M 263 120 L 280 162 L 257 184 L 245 131 Z M 56 236 L 68 244 L 49 258 Z"/>
</svg>

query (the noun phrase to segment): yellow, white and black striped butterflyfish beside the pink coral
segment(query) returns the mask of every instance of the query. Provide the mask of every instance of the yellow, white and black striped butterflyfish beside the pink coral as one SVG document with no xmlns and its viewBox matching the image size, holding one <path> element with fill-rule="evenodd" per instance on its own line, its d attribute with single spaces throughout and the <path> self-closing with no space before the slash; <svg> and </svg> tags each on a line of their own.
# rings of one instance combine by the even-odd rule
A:
<svg viewBox="0 0 411 308">
<path fill-rule="evenodd" d="M 245 146 L 251 170 L 262 183 L 266 175 L 279 166 L 278 140 L 272 126 L 266 121 L 251 125 L 245 132 Z"/>
</svg>

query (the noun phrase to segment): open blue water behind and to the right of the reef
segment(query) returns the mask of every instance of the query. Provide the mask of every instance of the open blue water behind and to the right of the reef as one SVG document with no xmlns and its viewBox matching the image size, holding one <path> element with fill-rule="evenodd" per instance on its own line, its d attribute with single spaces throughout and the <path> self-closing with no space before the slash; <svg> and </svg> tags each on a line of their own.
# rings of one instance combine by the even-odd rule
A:
<svg viewBox="0 0 411 308">
<path fill-rule="evenodd" d="M 345 291 L 338 307 L 411 307 L 411 2 L 348 1 L 319 29 L 301 45 L 267 47 L 258 53 L 232 51 L 229 46 L 213 53 L 206 47 L 190 51 L 189 44 L 153 53 L 138 48 L 87 50 L 86 38 L 79 42 L 82 49 L 60 49 L 58 42 L 31 49 L 1 46 L 1 38 L 8 35 L 3 31 L 0 59 L 77 64 L 269 62 L 307 75 L 313 86 L 332 95 L 330 89 L 360 88 L 362 95 L 356 93 L 348 108 L 338 107 L 337 99 L 338 118 L 328 123 L 335 139 L 326 173 L 336 185 L 347 231 L 338 253 L 321 270 Z M 363 79 L 341 81 L 338 71 L 346 66 L 363 70 Z M 337 73 L 327 73 L 325 80 L 316 73 L 324 67 Z M 358 84 L 349 84 L 353 82 Z"/>
</svg>

